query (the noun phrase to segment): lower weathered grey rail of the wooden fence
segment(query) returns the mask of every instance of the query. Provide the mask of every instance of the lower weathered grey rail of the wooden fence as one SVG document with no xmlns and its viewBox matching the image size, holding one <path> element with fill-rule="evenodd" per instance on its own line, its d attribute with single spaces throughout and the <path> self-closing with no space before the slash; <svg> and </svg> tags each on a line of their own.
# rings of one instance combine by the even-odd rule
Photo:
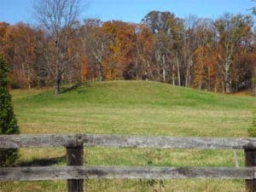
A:
<svg viewBox="0 0 256 192">
<path fill-rule="evenodd" d="M 239 178 L 253 179 L 254 168 L 208 167 L 121 167 L 121 166 L 38 166 L 4 167 L 0 181 L 37 181 L 83 178 Z"/>
</svg>

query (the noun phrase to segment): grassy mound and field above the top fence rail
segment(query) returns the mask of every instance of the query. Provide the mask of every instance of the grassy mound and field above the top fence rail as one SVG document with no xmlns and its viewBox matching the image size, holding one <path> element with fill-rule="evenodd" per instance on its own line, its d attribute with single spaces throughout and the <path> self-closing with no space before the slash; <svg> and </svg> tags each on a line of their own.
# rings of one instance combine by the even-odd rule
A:
<svg viewBox="0 0 256 192">
<path fill-rule="evenodd" d="M 255 97 L 146 81 L 83 84 L 60 96 L 15 90 L 13 96 L 24 133 L 241 137 L 247 136 L 256 106 Z"/>
</svg>

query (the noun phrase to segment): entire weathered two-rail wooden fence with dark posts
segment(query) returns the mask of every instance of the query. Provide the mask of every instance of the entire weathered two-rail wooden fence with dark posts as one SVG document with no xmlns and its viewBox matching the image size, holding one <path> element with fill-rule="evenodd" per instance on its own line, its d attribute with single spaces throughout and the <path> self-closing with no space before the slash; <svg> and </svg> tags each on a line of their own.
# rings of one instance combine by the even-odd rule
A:
<svg viewBox="0 0 256 192">
<path fill-rule="evenodd" d="M 85 147 L 243 149 L 246 167 L 83 166 Z M 67 179 L 68 192 L 84 191 L 84 178 L 239 178 L 256 192 L 256 139 L 212 137 L 130 137 L 108 135 L 2 135 L 0 148 L 67 148 L 67 166 L 0 167 L 1 181 Z"/>
</svg>

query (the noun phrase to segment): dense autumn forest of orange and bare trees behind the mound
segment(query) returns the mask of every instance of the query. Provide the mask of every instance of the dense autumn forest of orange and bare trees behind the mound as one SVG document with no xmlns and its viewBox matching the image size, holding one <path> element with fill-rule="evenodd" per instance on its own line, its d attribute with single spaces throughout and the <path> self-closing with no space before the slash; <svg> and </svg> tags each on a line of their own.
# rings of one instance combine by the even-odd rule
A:
<svg viewBox="0 0 256 192">
<path fill-rule="evenodd" d="M 252 89 L 256 71 L 251 15 L 211 20 L 151 11 L 139 24 L 86 19 L 58 31 L 0 22 L 0 54 L 12 88 L 26 89 L 144 79 L 230 93 Z"/>
</svg>

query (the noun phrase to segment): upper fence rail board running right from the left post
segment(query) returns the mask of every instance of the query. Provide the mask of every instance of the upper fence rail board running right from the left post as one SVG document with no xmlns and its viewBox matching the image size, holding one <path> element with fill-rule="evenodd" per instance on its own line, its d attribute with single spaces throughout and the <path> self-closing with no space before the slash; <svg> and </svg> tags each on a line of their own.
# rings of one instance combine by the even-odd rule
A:
<svg viewBox="0 0 256 192">
<path fill-rule="evenodd" d="M 84 135 L 84 146 L 116 148 L 201 148 L 201 149 L 244 149 L 256 148 L 255 138 L 214 137 L 140 137 Z"/>
</svg>

